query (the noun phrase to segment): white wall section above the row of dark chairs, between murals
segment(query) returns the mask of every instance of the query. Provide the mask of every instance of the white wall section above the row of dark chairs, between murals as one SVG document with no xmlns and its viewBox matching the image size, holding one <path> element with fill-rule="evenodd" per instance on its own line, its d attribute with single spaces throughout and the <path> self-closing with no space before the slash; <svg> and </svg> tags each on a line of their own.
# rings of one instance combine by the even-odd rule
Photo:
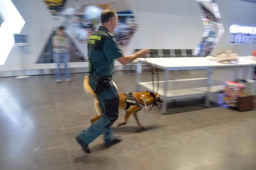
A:
<svg viewBox="0 0 256 170">
<path fill-rule="evenodd" d="M 139 28 L 127 53 L 136 48 L 194 49 L 203 34 L 199 6 L 193 0 L 129 1 Z"/>
</svg>

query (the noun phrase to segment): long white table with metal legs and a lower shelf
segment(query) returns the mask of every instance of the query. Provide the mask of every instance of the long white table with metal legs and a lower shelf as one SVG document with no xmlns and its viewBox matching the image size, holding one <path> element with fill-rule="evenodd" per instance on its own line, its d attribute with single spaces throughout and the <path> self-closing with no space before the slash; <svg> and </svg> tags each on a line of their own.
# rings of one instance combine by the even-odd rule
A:
<svg viewBox="0 0 256 170">
<path fill-rule="evenodd" d="M 137 90 L 142 86 L 152 91 L 152 82 L 141 82 L 142 64 L 145 64 L 145 58 L 138 58 L 138 61 L 136 74 Z M 164 70 L 164 81 L 159 81 L 158 91 L 158 94 L 164 100 L 161 112 L 167 113 L 167 101 L 169 99 L 181 99 L 197 96 L 206 96 L 205 106 L 209 107 L 210 93 L 218 92 L 223 89 L 223 85 L 220 85 L 213 80 L 214 68 L 243 67 L 245 72 L 246 68 L 256 66 L 256 61 L 250 60 L 247 57 L 239 57 L 238 61 L 239 62 L 237 64 L 221 64 L 216 61 L 210 61 L 207 57 L 146 58 L 146 62 L 154 65 L 156 68 Z M 191 69 L 207 69 L 207 77 L 169 80 L 170 71 Z M 198 86 L 198 84 L 202 84 L 204 86 Z M 183 85 L 189 85 L 189 87 L 181 88 Z M 169 90 L 169 86 L 176 88 Z"/>
</svg>

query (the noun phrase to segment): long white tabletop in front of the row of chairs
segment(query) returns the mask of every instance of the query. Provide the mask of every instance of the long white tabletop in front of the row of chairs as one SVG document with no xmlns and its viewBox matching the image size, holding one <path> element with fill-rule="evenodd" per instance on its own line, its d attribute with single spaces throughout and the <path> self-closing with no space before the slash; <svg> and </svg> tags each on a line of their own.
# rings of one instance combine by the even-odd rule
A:
<svg viewBox="0 0 256 170">
<path fill-rule="evenodd" d="M 138 58 L 138 60 L 145 62 L 145 58 Z M 238 57 L 237 64 L 221 64 L 216 61 L 210 61 L 207 57 L 146 58 L 146 62 L 149 62 L 158 68 L 165 68 L 169 70 L 181 68 L 195 69 L 208 67 L 256 66 L 256 61 L 250 60 L 248 57 Z"/>
</svg>

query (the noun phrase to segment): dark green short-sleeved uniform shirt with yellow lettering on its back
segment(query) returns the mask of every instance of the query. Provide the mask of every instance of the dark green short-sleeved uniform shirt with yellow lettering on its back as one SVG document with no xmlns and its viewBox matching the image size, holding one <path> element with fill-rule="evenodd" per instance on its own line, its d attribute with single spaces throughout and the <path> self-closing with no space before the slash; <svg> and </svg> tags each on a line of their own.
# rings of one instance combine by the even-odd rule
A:
<svg viewBox="0 0 256 170">
<path fill-rule="evenodd" d="M 98 77 L 112 76 L 114 59 L 122 57 L 115 36 L 107 28 L 100 26 L 88 40 L 89 69 L 92 75 Z"/>
</svg>

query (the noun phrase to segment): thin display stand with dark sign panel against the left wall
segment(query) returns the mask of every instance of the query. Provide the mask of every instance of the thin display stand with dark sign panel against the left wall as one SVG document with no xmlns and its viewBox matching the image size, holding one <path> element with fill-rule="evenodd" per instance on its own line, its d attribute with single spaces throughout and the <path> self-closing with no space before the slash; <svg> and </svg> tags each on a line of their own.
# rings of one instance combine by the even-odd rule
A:
<svg viewBox="0 0 256 170">
<path fill-rule="evenodd" d="M 27 43 L 27 35 L 21 35 L 21 34 L 14 34 L 14 41 L 15 45 L 20 47 L 20 70 L 21 70 L 21 75 L 16 76 L 15 78 L 28 78 L 30 77 L 29 75 L 26 75 L 25 72 L 25 62 L 24 62 L 24 48 Z"/>
</svg>

